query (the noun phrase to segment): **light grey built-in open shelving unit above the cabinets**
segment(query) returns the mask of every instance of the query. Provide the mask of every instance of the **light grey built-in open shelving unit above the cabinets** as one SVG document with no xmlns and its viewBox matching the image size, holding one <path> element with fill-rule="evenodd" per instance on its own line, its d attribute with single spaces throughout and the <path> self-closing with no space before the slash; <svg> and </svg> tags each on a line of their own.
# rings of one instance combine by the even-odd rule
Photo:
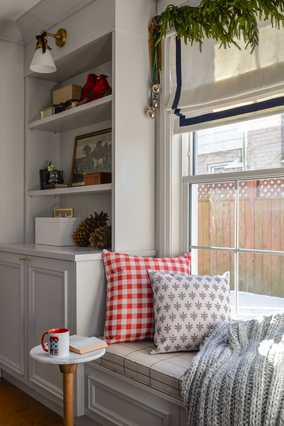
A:
<svg viewBox="0 0 284 426">
<path fill-rule="evenodd" d="M 95 8 L 93 3 L 98 2 L 90 3 L 90 9 Z M 147 4 L 148 19 L 154 8 L 152 3 Z M 140 16 L 136 2 L 129 5 L 135 16 Z M 56 72 L 39 74 L 25 66 L 26 244 L 35 242 L 35 218 L 53 217 L 55 208 L 74 208 L 75 217 L 90 217 L 103 210 L 112 226 L 112 250 L 145 256 L 154 253 L 155 121 L 145 115 L 151 80 L 148 28 L 135 24 L 130 32 L 125 32 L 123 19 L 109 19 L 111 14 L 117 15 L 120 7 L 120 3 L 110 2 L 107 12 L 105 6 L 99 9 L 94 18 L 96 25 L 84 31 L 79 31 L 73 21 L 69 26 L 64 22 L 66 46 L 52 51 Z M 33 55 L 34 43 L 29 49 Z M 69 84 L 84 86 L 90 73 L 108 76 L 112 95 L 40 119 L 40 111 L 53 104 L 54 90 Z M 55 170 L 63 171 L 65 183 L 70 181 L 76 137 L 110 128 L 111 184 L 40 190 L 39 170 L 50 161 Z M 95 142 L 88 143 L 94 150 Z M 86 155 L 82 148 L 77 150 L 80 157 Z M 94 171 L 88 168 L 84 173 Z M 80 252 L 81 248 L 77 250 Z"/>
</svg>

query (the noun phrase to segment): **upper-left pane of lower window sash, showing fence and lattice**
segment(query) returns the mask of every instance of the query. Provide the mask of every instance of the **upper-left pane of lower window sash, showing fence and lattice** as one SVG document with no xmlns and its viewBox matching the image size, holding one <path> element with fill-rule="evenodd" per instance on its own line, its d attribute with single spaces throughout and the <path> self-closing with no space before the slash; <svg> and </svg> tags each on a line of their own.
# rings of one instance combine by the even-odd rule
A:
<svg viewBox="0 0 284 426">
<path fill-rule="evenodd" d="M 198 196 L 198 244 L 192 245 L 233 248 L 235 181 L 193 186 Z"/>
</svg>

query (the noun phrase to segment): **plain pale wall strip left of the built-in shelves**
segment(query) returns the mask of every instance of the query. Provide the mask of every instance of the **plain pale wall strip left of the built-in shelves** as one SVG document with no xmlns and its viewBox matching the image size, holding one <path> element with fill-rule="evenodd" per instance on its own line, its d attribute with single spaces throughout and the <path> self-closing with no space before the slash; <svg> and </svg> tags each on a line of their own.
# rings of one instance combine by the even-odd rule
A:
<svg viewBox="0 0 284 426">
<path fill-rule="evenodd" d="M 0 243 L 24 241 L 23 46 L 0 40 Z"/>
</svg>

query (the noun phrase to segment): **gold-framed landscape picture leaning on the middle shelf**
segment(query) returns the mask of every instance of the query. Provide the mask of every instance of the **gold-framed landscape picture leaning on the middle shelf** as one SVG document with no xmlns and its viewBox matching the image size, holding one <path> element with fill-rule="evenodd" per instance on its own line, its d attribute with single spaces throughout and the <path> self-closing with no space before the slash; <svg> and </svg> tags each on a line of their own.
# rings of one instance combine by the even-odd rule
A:
<svg viewBox="0 0 284 426">
<path fill-rule="evenodd" d="M 111 129 L 76 136 L 70 187 L 85 184 L 88 173 L 111 173 Z"/>
</svg>

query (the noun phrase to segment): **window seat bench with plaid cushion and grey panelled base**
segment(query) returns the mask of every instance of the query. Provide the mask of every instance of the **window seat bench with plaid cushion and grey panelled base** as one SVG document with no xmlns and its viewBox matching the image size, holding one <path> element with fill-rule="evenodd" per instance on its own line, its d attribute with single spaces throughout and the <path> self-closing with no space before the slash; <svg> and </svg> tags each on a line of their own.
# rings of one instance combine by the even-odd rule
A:
<svg viewBox="0 0 284 426">
<path fill-rule="evenodd" d="M 153 340 L 112 343 L 85 364 L 85 415 L 94 426 L 187 426 L 181 386 L 196 352 L 150 355 L 153 348 Z"/>
</svg>

